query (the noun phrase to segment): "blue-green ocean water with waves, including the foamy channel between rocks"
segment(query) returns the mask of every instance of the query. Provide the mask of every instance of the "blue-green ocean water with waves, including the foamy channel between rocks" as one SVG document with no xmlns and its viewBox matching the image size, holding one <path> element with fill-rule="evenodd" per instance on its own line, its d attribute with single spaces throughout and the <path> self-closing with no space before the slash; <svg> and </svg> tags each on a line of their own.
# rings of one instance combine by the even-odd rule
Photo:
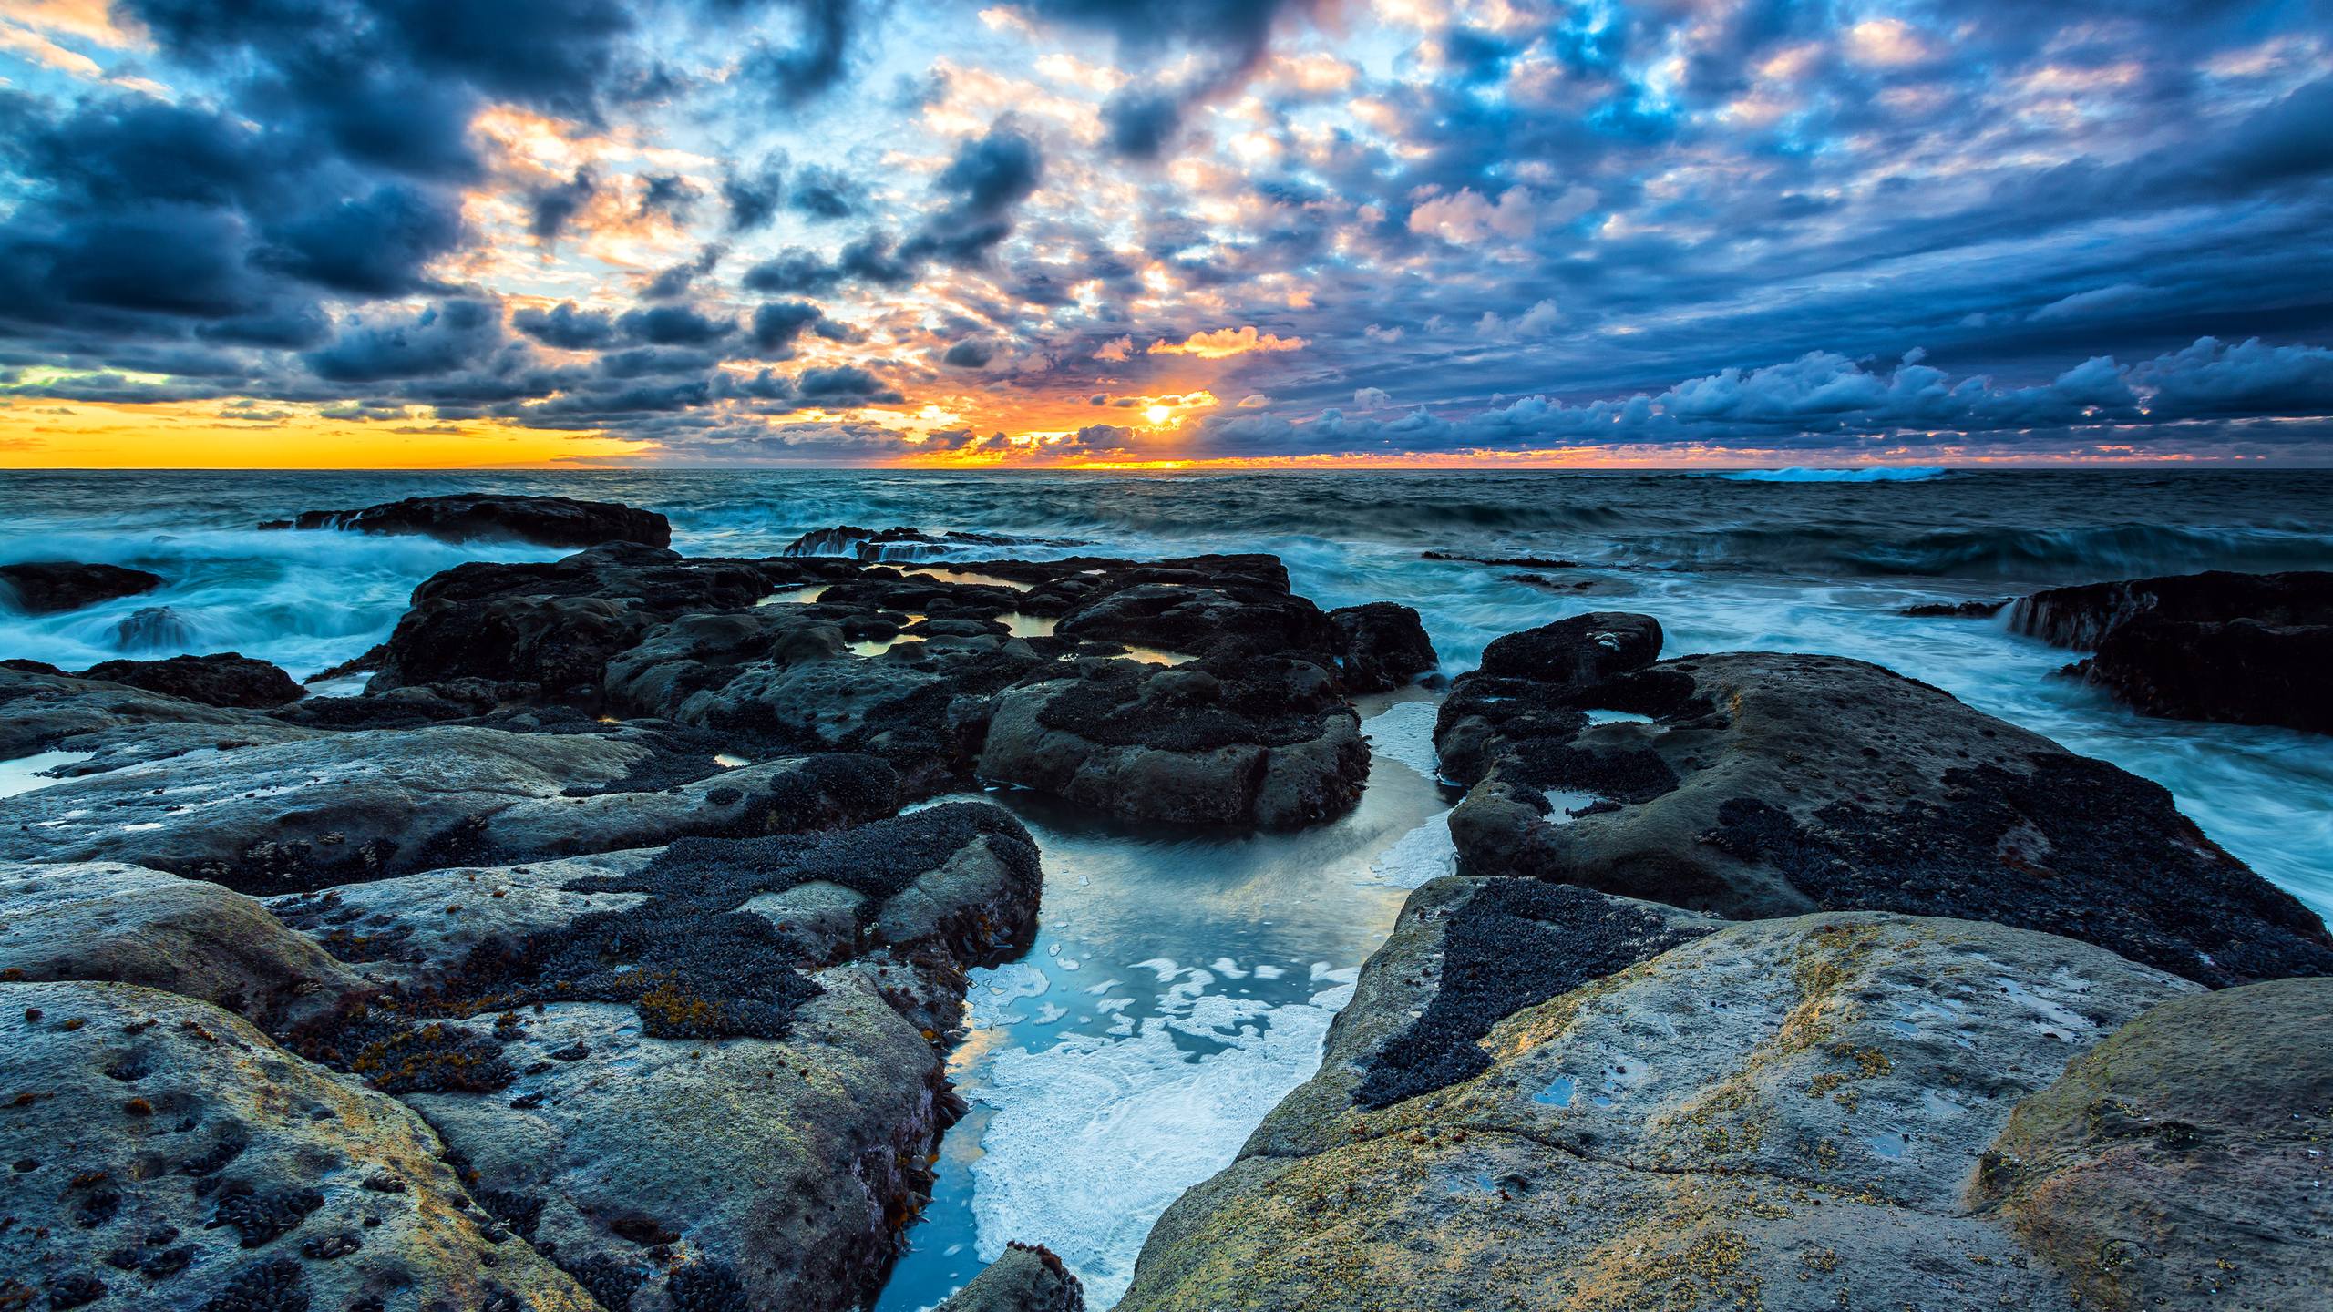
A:
<svg viewBox="0 0 2333 1312">
<path fill-rule="evenodd" d="M 313 675 L 385 637 L 429 574 L 555 553 L 254 525 L 453 490 L 649 507 L 698 556 L 772 556 L 842 523 L 1080 544 L 1055 553 L 1269 551 L 1323 607 L 1418 607 L 1449 675 L 1502 633 L 1586 609 L 1659 616 L 1668 656 L 1859 656 L 2165 784 L 2333 915 L 2333 740 L 2139 717 L 2055 677 L 2074 656 L 1999 621 L 1899 614 L 2097 579 L 2328 570 L 2333 472 L 9 474 L 0 563 L 135 565 L 168 586 L 58 616 L 0 607 L 0 656 L 243 651 Z M 1055 1247 L 1108 1307 L 1166 1202 L 1311 1074 L 1404 889 L 1449 861 L 1456 791 L 1432 777 L 1430 698 L 1362 712 L 1369 794 L 1306 833 L 1143 833 L 994 796 L 1045 852 L 1045 927 L 1024 962 L 975 973 L 952 1060 L 973 1114 L 880 1307 L 936 1303 L 1006 1240 Z"/>
</svg>

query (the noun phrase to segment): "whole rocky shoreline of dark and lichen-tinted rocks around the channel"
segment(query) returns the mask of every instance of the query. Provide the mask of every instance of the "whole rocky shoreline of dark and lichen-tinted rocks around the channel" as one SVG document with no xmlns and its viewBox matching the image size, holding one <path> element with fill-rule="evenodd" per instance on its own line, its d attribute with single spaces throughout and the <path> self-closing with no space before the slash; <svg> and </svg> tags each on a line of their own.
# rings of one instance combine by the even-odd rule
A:
<svg viewBox="0 0 2333 1312">
<path fill-rule="evenodd" d="M 0 798 L 0 1307 L 859 1307 L 1038 922 L 1029 831 L 940 798 L 1323 824 L 1351 698 L 1439 665 L 1269 556 L 429 502 L 296 523 L 581 551 L 429 579 L 357 696 L 0 663 L 56 780 Z M 2314 1307 L 2326 927 L 1932 686 L 1661 644 L 1449 689 L 1460 873 L 1120 1307 Z M 950 1307 L 1083 1298 L 1013 1247 Z"/>
</svg>

